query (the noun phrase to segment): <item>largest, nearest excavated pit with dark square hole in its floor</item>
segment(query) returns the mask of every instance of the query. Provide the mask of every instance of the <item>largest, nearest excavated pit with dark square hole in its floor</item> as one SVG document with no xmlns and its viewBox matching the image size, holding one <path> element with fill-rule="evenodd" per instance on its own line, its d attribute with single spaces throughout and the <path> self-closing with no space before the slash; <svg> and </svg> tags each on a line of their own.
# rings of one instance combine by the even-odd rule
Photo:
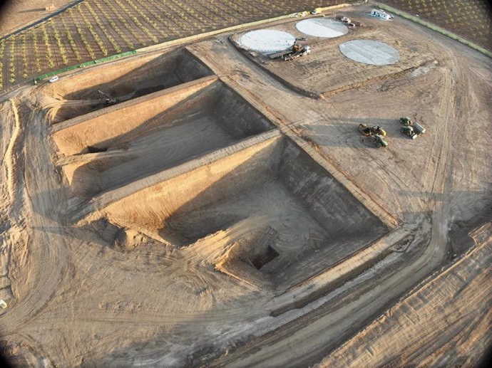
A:
<svg viewBox="0 0 492 368">
<path fill-rule="evenodd" d="M 226 231 L 232 248 L 216 268 L 262 287 L 288 288 L 389 231 L 282 135 L 133 194 L 128 189 L 102 216 L 178 247 L 200 247 Z"/>
</svg>

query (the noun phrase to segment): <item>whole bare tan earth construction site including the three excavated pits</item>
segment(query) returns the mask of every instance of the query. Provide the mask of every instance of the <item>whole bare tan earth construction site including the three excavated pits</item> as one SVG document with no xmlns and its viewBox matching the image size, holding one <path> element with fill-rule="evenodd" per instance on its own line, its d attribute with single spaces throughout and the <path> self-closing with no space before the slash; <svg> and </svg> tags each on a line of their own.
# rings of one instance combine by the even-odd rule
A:
<svg viewBox="0 0 492 368">
<path fill-rule="evenodd" d="M 354 68 L 326 52 L 352 34 L 313 44 L 336 70 L 306 56 L 285 80 L 222 34 L 5 95 L 11 361 L 476 363 L 491 343 L 492 62 L 404 19 L 367 35 L 437 62 L 358 65 L 315 99 L 285 80 Z M 405 115 L 425 135 L 401 135 Z"/>
</svg>

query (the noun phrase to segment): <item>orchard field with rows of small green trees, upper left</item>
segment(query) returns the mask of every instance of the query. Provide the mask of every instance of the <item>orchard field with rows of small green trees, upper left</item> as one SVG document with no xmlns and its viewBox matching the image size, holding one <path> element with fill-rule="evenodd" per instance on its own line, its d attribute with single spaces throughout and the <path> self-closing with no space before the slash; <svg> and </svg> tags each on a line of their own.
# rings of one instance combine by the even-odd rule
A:
<svg viewBox="0 0 492 368">
<path fill-rule="evenodd" d="M 342 0 L 85 0 L 0 41 L 0 90 L 67 65 Z"/>
</svg>

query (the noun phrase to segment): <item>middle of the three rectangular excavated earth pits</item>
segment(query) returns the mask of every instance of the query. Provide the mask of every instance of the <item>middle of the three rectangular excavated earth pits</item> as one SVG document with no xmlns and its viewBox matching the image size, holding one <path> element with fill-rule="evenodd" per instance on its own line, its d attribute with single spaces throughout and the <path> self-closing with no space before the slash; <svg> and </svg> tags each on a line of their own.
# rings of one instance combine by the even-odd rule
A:
<svg viewBox="0 0 492 368">
<path fill-rule="evenodd" d="M 220 80 L 189 84 L 54 132 L 73 193 L 91 198 L 273 128 Z"/>
</svg>

